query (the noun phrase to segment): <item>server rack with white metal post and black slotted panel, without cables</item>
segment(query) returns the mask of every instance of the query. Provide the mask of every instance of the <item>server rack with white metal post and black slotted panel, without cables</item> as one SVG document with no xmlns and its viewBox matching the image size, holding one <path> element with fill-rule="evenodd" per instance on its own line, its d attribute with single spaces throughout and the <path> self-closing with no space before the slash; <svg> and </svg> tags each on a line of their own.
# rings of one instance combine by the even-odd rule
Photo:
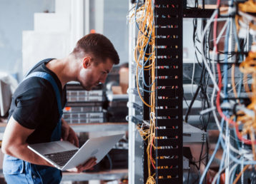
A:
<svg viewBox="0 0 256 184">
<path fill-rule="evenodd" d="M 132 3 L 129 6 L 132 9 Z M 182 156 L 182 18 L 183 1 L 155 0 L 155 101 L 156 130 L 155 146 L 152 153 L 156 161 L 156 183 L 183 182 Z M 135 26 L 129 26 L 129 102 L 134 102 L 137 96 L 132 93 L 135 88 L 133 48 L 136 40 Z M 150 64 L 150 63 L 149 63 Z M 144 78 L 150 81 L 150 73 L 144 72 Z M 145 87 L 145 86 L 144 86 Z M 143 93 L 144 101 L 149 103 L 149 95 Z M 132 116 L 136 110 L 129 108 L 129 183 L 146 183 L 147 143 L 136 133 Z M 149 108 L 143 106 L 143 119 L 149 120 Z M 140 156 L 139 156 L 140 153 Z M 135 161 L 136 159 L 136 161 Z M 137 167 L 141 167 L 137 169 Z M 143 168 L 143 173 L 141 168 Z M 142 174 L 142 176 L 140 176 Z"/>
</svg>

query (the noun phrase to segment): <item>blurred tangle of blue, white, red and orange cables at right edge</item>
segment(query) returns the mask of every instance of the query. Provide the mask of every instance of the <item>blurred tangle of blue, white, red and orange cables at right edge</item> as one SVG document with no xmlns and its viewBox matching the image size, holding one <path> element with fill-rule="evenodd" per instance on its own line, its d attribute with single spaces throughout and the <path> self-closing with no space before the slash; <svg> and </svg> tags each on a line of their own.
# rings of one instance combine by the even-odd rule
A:
<svg viewBox="0 0 256 184">
<path fill-rule="evenodd" d="M 249 7 L 250 6 L 250 7 Z M 203 183 L 207 170 L 212 163 L 212 160 L 217 153 L 217 149 L 219 145 L 222 145 L 223 155 L 220 163 L 220 170 L 215 175 L 215 178 L 212 180 L 212 183 L 220 183 L 220 174 L 224 171 L 225 181 L 237 183 L 238 180 L 243 182 L 243 173 L 245 170 L 250 169 L 252 172 L 255 172 L 255 164 L 256 164 L 256 153 L 255 153 L 255 128 L 256 128 L 256 53 L 255 46 L 252 46 L 252 51 L 249 52 L 248 56 L 245 58 L 245 51 L 242 50 L 242 42 L 245 43 L 248 37 L 248 29 L 245 30 L 245 27 L 250 27 L 250 34 L 255 37 L 254 30 L 254 21 L 255 17 L 252 17 L 250 14 L 247 15 L 248 12 L 254 13 L 256 12 L 256 6 L 254 1 L 246 1 L 244 4 L 238 4 L 238 11 L 234 9 L 234 2 L 230 1 L 228 14 L 223 16 L 220 14 L 220 0 L 217 1 L 218 9 L 212 14 L 212 17 L 209 21 L 207 21 L 207 25 L 202 34 L 202 43 L 204 42 L 205 33 L 207 29 L 210 29 L 210 25 L 213 24 L 213 59 L 212 59 L 212 67 L 210 67 L 207 62 L 207 58 L 204 56 L 204 48 L 202 46 L 202 58 L 207 68 L 207 71 L 212 79 L 214 84 L 214 88 L 212 91 L 211 97 L 211 109 L 213 116 L 215 117 L 215 121 L 217 123 L 217 127 L 220 130 L 220 136 L 217 141 L 217 145 L 215 147 L 214 153 L 210 158 L 209 163 L 207 163 L 204 173 L 202 173 L 202 177 L 200 179 L 200 183 Z M 246 11 L 246 12 L 245 12 Z M 234 16 L 234 13 L 238 12 Z M 226 17 L 225 19 L 219 17 Z M 233 18 L 235 17 L 235 19 Z M 217 36 L 217 21 L 225 21 L 225 26 L 223 26 L 222 31 Z M 218 43 L 220 41 L 220 37 L 225 30 L 225 49 L 224 49 L 224 62 L 217 62 L 217 73 L 215 74 L 215 58 L 220 57 L 220 52 L 218 51 Z M 238 31 L 238 34 L 237 34 Z M 230 36 L 235 38 L 236 43 L 232 44 L 232 39 Z M 243 39 L 243 40 L 240 40 Z M 233 47 L 235 46 L 235 48 Z M 232 62 L 232 58 L 228 57 L 229 53 L 235 53 L 236 60 Z M 234 58 L 234 57 L 233 57 Z M 219 59 L 217 59 L 219 60 Z M 232 66 L 231 78 L 232 78 L 232 89 L 235 98 L 230 98 L 230 91 L 228 91 L 228 66 Z M 241 73 L 240 81 L 235 83 L 235 66 L 239 66 Z M 238 74 L 238 73 L 237 73 Z M 247 83 L 248 75 L 252 77 L 252 85 L 250 89 L 250 85 Z M 247 97 L 250 99 L 250 104 L 245 106 L 245 101 L 241 100 L 240 93 L 242 91 L 242 85 L 245 87 L 245 92 L 247 92 Z M 238 86 L 238 90 L 237 90 Z M 217 96 L 215 96 L 217 93 Z M 244 103 L 244 104 L 243 104 Z M 215 111 L 215 105 L 217 112 L 222 117 L 221 123 L 219 118 L 217 117 L 217 113 Z M 242 129 L 242 131 L 240 131 Z M 233 133 L 233 134 L 231 134 Z M 232 136 L 234 135 L 234 136 Z M 235 145 L 232 144 L 232 140 L 235 141 Z M 247 146 L 246 146 L 247 145 Z M 250 165 L 253 165 L 250 166 Z M 240 172 L 239 172 L 240 170 Z M 235 174 L 237 178 L 235 178 Z M 235 178 L 235 180 L 234 180 Z"/>
</svg>

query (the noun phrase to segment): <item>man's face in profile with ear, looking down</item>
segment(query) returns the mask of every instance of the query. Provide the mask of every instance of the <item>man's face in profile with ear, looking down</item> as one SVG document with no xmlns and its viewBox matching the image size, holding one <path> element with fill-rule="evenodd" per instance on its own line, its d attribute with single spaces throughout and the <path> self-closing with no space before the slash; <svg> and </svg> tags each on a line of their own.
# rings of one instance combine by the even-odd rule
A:
<svg viewBox="0 0 256 184">
<path fill-rule="evenodd" d="M 85 57 L 83 60 L 83 67 L 79 72 L 78 81 L 82 87 L 90 91 L 94 86 L 99 83 L 104 83 L 107 78 L 107 74 L 112 69 L 113 63 L 107 58 L 105 62 L 99 62 L 95 64 L 95 59 L 91 57 Z"/>
</svg>

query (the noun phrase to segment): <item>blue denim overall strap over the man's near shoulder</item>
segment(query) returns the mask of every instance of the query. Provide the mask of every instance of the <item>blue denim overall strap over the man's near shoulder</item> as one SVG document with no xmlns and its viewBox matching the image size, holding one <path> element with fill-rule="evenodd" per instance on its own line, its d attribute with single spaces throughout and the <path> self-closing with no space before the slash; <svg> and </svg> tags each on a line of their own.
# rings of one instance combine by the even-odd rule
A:
<svg viewBox="0 0 256 184">
<path fill-rule="evenodd" d="M 58 109 L 59 109 L 59 122 L 58 122 L 56 128 L 54 129 L 53 133 L 51 134 L 51 141 L 60 140 L 61 139 L 61 116 L 62 116 L 63 111 L 62 111 L 62 107 L 61 107 L 61 94 L 60 94 L 59 88 L 56 84 L 56 81 L 49 73 L 42 72 L 42 71 L 35 71 L 33 73 L 30 73 L 28 76 L 26 76 L 26 78 L 24 78 L 23 81 L 25 81 L 26 79 L 31 78 L 31 77 L 39 77 L 39 78 L 46 79 L 47 81 L 49 81 L 49 83 L 51 83 L 51 86 L 54 89 L 56 100 L 57 100 L 57 105 L 58 105 Z"/>
</svg>

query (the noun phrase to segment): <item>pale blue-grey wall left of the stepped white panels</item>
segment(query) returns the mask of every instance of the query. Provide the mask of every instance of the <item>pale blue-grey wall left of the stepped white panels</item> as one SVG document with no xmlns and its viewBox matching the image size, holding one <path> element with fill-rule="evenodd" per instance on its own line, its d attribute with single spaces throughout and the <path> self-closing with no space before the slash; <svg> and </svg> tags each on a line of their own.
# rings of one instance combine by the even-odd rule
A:
<svg viewBox="0 0 256 184">
<path fill-rule="evenodd" d="M 34 13 L 54 11 L 54 0 L 0 0 L 0 71 L 22 70 L 22 31 L 34 28 Z"/>
</svg>

